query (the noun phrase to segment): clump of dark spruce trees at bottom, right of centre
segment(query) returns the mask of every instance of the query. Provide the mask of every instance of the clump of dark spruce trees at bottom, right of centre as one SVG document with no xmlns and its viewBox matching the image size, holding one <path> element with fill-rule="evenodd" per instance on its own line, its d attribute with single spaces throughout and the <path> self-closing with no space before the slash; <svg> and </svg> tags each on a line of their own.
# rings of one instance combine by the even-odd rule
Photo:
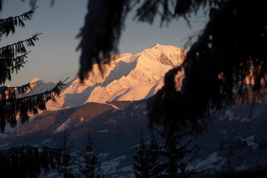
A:
<svg viewBox="0 0 267 178">
<path fill-rule="evenodd" d="M 135 177 L 189 178 L 195 176 L 197 174 L 195 170 L 187 170 L 187 161 L 184 158 L 196 146 L 188 149 L 191 141 L 182 145 L 180 142 L 183 137 L 180 134 L 175 134 L 171 140 L 165 140 L 163 145 L 159 145 L 155 132 L 164 138 L 164 134 L 160 130 L 153 129 L 149 144 L 144 141 L 143 133 L 140 132 L 139 146 L 133 155 Z"/>
</svg>

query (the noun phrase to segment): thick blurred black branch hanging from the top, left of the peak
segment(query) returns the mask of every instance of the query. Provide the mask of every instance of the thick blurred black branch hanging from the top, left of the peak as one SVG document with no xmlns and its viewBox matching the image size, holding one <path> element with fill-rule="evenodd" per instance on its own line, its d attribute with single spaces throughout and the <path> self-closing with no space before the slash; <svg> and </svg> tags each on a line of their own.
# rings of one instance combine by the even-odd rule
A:
<svg viewBox="0 0 267 178">
<path fill-rule="evenodd" d="M 110 59 L 112 54 L 117 53 L 130 2 L 131 0 L 88 2 L 85 24 L 77 35 L 82 38 L 77 48 L 81 49 L 79 76 L 82 81 L 94 63 L 100 64 L 101 60 Z"/>
</svg>

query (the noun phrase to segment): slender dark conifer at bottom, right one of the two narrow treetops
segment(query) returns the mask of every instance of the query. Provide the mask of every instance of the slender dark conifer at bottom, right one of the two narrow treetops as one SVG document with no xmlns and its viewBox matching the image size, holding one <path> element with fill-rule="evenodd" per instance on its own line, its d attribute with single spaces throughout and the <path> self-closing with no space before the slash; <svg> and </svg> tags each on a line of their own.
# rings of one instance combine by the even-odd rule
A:
<svg viewBox="0 0 267 178">
<path fill-rule="evenodd" d="M 86 133 L 86 138 L 83 142 L 83 152 L 81 156 L 84 159 L 85 165 L 79 165 L 79 171 L 86 178 L 95 178 L 95 170 L 99 170 L 101 163 L 98 162 L 98 152 L 94 150 L 95 139 L 92 138 L 91 132 Z M 97 175 L 99 178 L 100 175 Z"/>
</svg>

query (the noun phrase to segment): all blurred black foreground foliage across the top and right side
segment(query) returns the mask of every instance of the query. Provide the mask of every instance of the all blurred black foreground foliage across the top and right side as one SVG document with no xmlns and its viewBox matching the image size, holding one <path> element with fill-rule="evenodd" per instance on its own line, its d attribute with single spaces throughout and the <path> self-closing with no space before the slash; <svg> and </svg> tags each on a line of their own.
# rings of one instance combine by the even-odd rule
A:
<svg viewBox="0 0 267 178">
<path fill-rule="evenodd" d="M 233 92 L 246 99 L 246 94 L 241 94 L 245 77 L 250 77 L 254 90 L 260 89 L 262 82 L 266 84 L 267 2 L 234 0 L 146 0 L 142 4 L 121 0 L 112 5 L 89 1 L 80 34 L 82 80 L 93 63 L 101 64 L 116 52 L 125 16 L 134 5 L 139 5 L 137 20 L 152 23 L 160 15 L 160 25 L 180 17 L 189 23 L 200 8 L 209 10 L 209 22 L 184 63 L 166 74 L 164 87 L 148 100 L 151 124 L 163 125 L 167 135 L 181 130 L 202 133 L 213 110 L 234 103 Z M 105 13 L 96 11 L 100 6 Z M 181 90 L 176 91 L 174 75 L 181 68 L 185 78 Z"/>
</svg>

